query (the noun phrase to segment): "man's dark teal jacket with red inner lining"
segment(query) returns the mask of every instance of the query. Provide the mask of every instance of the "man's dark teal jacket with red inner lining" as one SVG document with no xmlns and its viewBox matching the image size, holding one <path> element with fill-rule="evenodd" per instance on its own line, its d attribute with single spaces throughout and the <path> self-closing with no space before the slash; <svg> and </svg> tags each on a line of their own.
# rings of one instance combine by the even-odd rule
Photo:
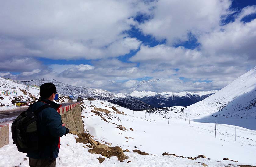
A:
<svg viewBox="0 0 256 167">
<path fill-rule="evenodd" d="M 57 112 L 61 105 L 49 100 L 41 100 L 32 106 L 32 111 L 50 104 L 54 108 L 45 108 L 38 113 L 37 131 L 39 133 L 39 151 L 27 153 L 34 159 L 54 159 L 58 157 L 60 137 L 65 135 L 66 127 L 62 126 L 61 116 Z"/>
</svg>

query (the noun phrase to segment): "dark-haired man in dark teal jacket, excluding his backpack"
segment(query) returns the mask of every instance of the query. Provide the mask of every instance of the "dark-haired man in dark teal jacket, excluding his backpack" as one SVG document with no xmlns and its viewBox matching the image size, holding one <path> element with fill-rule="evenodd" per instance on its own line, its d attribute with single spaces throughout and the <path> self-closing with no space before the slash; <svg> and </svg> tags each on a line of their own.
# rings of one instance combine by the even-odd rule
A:
<svg viewBox="0 0 256 167">
<path fill-rule="evenodd" d="M 32 106 L 32 111 L 46 104 L 53 108 L 45 108 L 37 115 L 39 150 L 27 153 L 30 167 L 55 167 L 60 137 L 69 133 L 69 129 L 64 126 L 57 112 L 61 105 L 53 102 L 56 94 L 56 87 L 53 83 L 44 83 L 40 86 L 39 102 Z"/>
</svg>

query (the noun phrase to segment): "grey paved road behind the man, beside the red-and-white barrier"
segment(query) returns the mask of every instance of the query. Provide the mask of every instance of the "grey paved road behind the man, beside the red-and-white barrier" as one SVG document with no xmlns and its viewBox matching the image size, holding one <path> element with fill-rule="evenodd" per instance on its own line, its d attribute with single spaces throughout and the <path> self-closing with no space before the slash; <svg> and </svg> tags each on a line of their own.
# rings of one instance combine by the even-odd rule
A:
<svg viewBox="0 0 256 167">
<path fill-rule="evenodd" d="M 75 103 L 75 102 L 74 102 Z M 62 103 L 62 107 L 68 106 L 70 104 L 74 103 Z M 23 111 L 26 111 L 28 106 L 24 107 L 16 107 L 9 110 L 0 111 L 0 124 L 3 124 L 4 122 L 15 120 L 15 118 L 22 113 Z"/>
</svg>

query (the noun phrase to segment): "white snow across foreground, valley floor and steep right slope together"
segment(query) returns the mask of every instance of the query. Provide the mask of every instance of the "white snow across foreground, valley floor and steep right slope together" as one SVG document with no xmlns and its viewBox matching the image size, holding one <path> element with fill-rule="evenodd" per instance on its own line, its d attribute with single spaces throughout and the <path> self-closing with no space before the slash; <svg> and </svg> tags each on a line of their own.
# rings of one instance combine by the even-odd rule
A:
<svg viewBox="0 0 256 167">
<path fill-rule="evenodd" d="M 230 166 L 228 164 L 255 166 L 255 82 L 256 68 L 201 102 L 188 107 L 175 106 L 150 110 L 153 113 L 132 111 L 103 100 L 84 100 L 84 129 L 94 136 L 94 140 L 129 149 L 130 152 L 124 152 L 129 158 L 124 162 L 117 161 L 116 157 L 105 158 L 103 163 L 99 164 L 96 158 L 102 155 L 89 153 L 86 145 L 76 143 L 76 135 L 68 134 L 61 138 L 57 166 L 194 167 L 202 166 L 202 163 L 209 167 Z M 114 107 L 125 114 L 116 113 Z M 108 122 L 91 112 L 96 108 L 110 111 L 110 114 L 99 111 Z M 122 131 L 116 128 L 117 125 L 122 125 L 127 130 Z M 134 131 L 129 130 L 130 128 Z M 28 159 L 24 161 L 26 154 L 18 152 L 12 144 L 11 132 L 9 139 L 9 144 L 0 148 L 0 166 L 13 167 L 20 164 L 20 167 L 28 167 Z M 133 149 L 137 149 L 135 146 L 150 155 L 132 152 Z M 202 154 L 210 159 L 189 160 L 162 156 L 164 152 L 184 157 Z M 223 161 L 223 158 L 239 162 Z M 131 162 L 126 163 L 128 161 Z"/>
</svg>

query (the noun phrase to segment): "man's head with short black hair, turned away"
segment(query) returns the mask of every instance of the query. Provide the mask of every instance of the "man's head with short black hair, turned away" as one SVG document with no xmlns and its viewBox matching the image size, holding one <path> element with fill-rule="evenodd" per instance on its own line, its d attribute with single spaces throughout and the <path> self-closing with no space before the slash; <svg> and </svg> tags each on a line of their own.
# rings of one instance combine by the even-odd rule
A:
<svg viewBox="0 0 256 167">
<path fill-rule="evenodd" d="M 40 86 L 41 99 L 48 99 L 53 101 L 56 94 L 56 87 L 53 83 L 44 83 Z"/>
</svg>

